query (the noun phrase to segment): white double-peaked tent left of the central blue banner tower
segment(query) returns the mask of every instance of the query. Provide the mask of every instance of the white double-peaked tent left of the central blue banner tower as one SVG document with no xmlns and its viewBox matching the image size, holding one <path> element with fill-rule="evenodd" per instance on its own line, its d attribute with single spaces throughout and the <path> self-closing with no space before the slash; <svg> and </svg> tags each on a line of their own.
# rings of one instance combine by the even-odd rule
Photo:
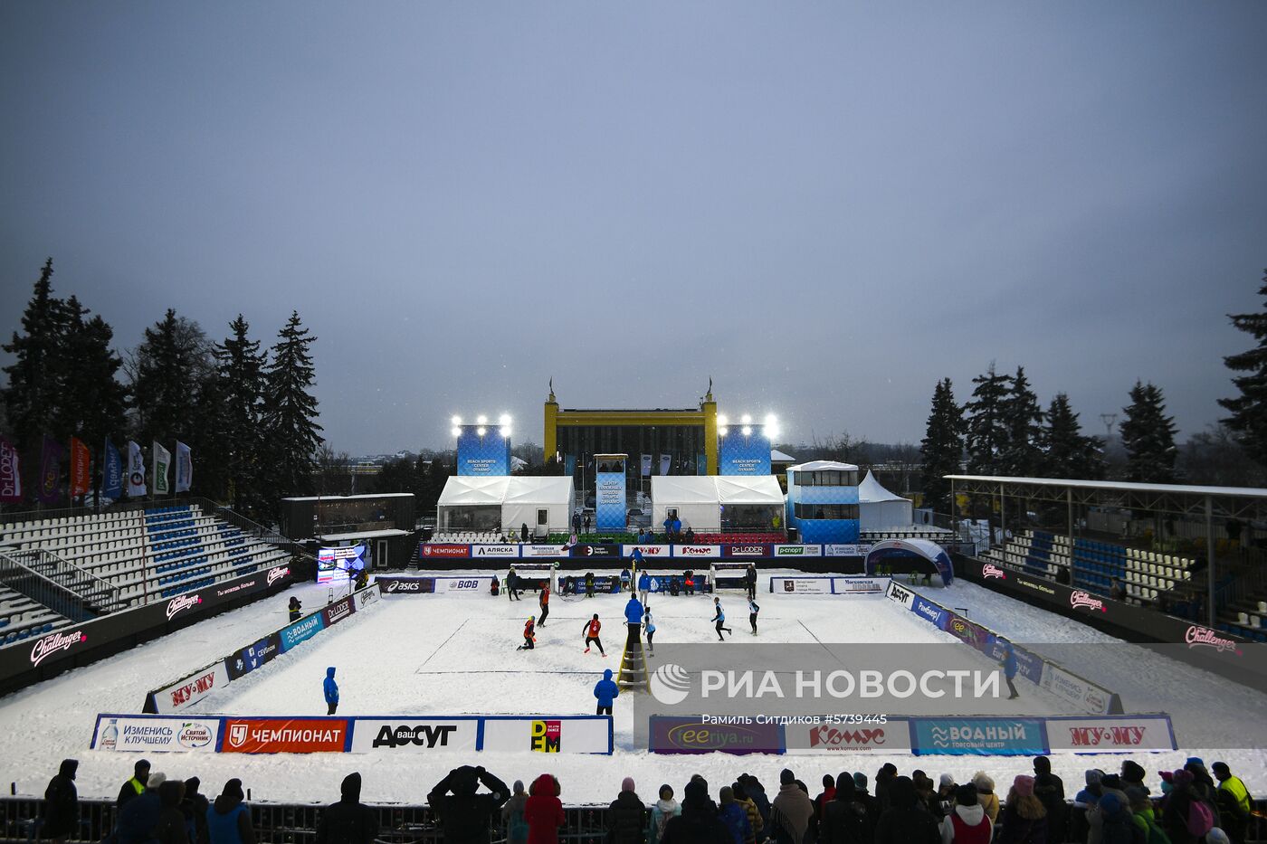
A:
<svg viewBox="0 0 1267 844">
<path fill-rule="evenodd" d="M 527 525 L 535 534 L 565 534 L 575 506 L 571 478 L 455 475 L 440 493 L 436 525 L 441 530 L 512 532 Z M 544 523 L 538 511 L 545 511 Z"/>
</svg>

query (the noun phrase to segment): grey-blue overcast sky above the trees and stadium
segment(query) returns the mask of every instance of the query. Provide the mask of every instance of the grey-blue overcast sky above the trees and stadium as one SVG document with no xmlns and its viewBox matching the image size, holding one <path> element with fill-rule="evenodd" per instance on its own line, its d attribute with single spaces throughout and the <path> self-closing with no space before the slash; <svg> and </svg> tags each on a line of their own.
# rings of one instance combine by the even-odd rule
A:
<svg viewBox="0 0 1267 844">
<path fill-rule="evenodd" d="M 0 4 L 0 331 L 46 256 L 319 337 L 352 454 L 509 412 L 922 436 L 1022 364 L 1090 432 L 1220 414 L 1262 307 L 1267 4 Z"/>
</svg>

